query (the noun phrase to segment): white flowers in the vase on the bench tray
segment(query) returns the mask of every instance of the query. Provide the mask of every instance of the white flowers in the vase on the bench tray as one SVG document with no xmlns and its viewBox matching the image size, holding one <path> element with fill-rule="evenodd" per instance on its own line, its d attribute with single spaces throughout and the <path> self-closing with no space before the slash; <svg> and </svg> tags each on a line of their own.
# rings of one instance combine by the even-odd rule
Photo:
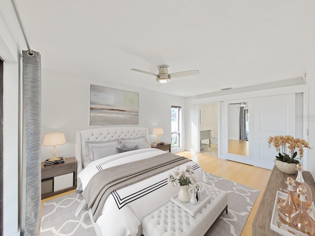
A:
<svg viewBox="0 0 315 236">
<path fill-rule="evenodd" d="M 176 166 L 173 172 L 174 174 L 169 174 L 168 176 L 168 184 L 171 187 L 176 187 L 178 184 L 180 186 L 184 186 L 197 183 L 197 179 L 194 177 L 192 167 L 190 165 L 186 166 L 185 171 L 180 171 L 179 167 Z"/>
</svg>

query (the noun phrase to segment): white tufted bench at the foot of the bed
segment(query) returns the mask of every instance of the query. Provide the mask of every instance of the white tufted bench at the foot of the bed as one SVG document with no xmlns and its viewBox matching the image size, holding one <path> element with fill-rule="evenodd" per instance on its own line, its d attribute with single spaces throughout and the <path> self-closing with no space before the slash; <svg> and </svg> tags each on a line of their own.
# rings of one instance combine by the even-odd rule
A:
<svg viewBox="0 0 315 236">
<path fill-rule="evenodd" d="M 194 216 L 168 202 L 142 220 L 144 236 L 204 236 L 226 211 L 227 193 L 210 185 L 205 189 L 211 200 Z"/>
</svg>

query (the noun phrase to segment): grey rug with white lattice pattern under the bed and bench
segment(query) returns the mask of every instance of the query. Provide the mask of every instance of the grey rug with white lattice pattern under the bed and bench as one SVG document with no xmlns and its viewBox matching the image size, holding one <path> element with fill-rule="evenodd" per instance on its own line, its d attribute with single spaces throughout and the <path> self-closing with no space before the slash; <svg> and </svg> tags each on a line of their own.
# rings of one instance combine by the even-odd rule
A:
<svg viewBox="0 0 315 236">
<path fill-rule="evenodd" d="M 208 183 L 228 193 L 225 211 L 206 236 L 240 236 L 256 201 L 259 190 L 208 174 Z M 44 204 L 40 236 L 96 236 L 88 211 L 74 213 L 83 200 L 71 193 Z"/>
</svg>

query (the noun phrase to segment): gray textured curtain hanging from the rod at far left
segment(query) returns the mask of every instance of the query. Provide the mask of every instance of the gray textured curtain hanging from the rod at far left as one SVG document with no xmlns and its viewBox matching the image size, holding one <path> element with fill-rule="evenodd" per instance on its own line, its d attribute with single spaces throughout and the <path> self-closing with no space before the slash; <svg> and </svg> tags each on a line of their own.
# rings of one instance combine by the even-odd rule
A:
<svg viewBox="0 0 315 236">
<path fill-rule="evenodd" d="M 40 54 L 23 51 L 23 143 L 25 147 L 24 171 L 25 236 L 37 236 L 40 222 L 41 170 L 41 62 Z"/>
</svg>

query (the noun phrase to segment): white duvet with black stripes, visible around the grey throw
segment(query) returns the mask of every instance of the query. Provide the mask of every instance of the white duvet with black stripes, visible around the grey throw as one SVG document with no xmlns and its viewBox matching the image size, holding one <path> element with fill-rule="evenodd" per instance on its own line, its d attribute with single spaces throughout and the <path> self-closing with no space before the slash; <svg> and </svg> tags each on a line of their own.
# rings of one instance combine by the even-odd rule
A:
<svg viewBox="0 0 315 236">
<path fill-rule="evenodd" d="M 144 148 L 104 157 L 90 163 L 79 173 L 78 178 L 84 190 L 92 176 L 100 170 L 163 153 L 157 148 Z M 181 165 L 180 169 L 184 170 L 187 165 L 192 166 L 198 181 L 206 182 L 205 173 L 196 163 L 189 161 Z M 172 188 L 167 184 L 168 175 L 172 172 L 173 169 L 114 191 L 96 220 L 102 236 L 141 235 L 142 219 L 169 202 L 170 197 L 179 191 L 179 187 Z"/>
</svg>

